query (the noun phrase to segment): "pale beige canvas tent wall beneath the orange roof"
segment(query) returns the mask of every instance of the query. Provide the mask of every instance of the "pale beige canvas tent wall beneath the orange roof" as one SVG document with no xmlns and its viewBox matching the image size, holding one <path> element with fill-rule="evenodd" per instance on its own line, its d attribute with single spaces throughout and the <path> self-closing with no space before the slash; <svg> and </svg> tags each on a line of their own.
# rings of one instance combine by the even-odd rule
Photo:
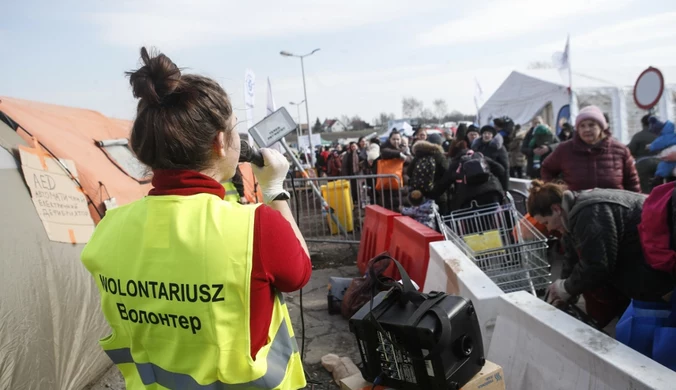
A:
<svg viewBox="0 0 676 390">
<path fill-rule="evenodd" d="M 0 122 L 0 389 L 81 389 L 111 365 L 98 345 L 109 330 L 84 246 L 47 238 L 10 152 L 20 144 Z"/>
</svg>

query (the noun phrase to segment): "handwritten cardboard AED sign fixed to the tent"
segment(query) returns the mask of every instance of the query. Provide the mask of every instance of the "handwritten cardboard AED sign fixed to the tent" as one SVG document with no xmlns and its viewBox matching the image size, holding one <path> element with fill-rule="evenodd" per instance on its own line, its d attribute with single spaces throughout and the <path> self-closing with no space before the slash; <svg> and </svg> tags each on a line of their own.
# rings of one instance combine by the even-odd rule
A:
<svg viewBox="0 0 676 390">
<path fill-rule="evenodd" d="M 51 241 L 83 244 L 94 232 L 87 198 L 61 165 L 41 149 L 19 147 L 21 169 Z M 77 177 L 75 164 L 59 160 Z"/>
</svg>

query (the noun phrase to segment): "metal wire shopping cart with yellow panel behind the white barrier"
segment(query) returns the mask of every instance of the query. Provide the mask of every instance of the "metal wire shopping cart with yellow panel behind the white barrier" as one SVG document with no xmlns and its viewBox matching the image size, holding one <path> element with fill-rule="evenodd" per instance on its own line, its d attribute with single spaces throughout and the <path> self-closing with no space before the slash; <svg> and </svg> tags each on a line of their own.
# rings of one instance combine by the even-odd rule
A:
<svg viewBox="0 0 676 390">
<path fill-rule="evenodd" d="M 476 206 L 440 218 L 446 240 L 457 245 L 504 292 L 537 296 L 551 283 L 547 238 L 514 205 Z"/>
</svg>

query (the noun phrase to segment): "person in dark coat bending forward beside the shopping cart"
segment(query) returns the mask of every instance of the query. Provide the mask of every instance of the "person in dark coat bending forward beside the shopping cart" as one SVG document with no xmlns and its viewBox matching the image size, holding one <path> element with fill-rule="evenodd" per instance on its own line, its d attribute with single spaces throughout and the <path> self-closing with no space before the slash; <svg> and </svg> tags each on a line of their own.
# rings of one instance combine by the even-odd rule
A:
<svg viewBox="0 0 676 390">
<path fill-rule="evenodd" d="M 528 212 L 567 243 L 561 279 L 548 288 L 547 302 L 563 305 L 583 295 L 587 314 L 606 326 L 630 299 L 666 302 L 671 274 L 650 267 L 638 232 L 645 195 L 565 186 L 533 180 Z"/>
</svg>

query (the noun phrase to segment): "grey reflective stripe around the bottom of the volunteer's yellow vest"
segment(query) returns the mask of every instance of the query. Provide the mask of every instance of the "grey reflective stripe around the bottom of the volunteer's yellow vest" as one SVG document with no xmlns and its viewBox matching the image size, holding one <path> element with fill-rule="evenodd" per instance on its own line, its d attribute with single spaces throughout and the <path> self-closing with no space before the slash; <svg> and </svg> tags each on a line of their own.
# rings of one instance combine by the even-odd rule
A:
<svg viewBox="0 0 676 390">
<path fill-rule="evenodd" d="M 199 390 L 221 390 L 221 389 L 241 389 L 257 388 L 272 389 L 279 386 L 284 379 L 286 365 L 291 359 L 291 355 L 298 352 L 298 344 L 295 339 L 287 337 L 289 329 L 286 322 L 282 322 L 277 331 L 275 339 L 272 341 L 270 352 L 267 357 L 268 370 L 263 377 L 248 383 L 229 384 L 223 382 L 214 382 L 208 385 L 200 385 L 190 375 L 170 372 L 162 367 L 152 363 L 136 363 L 131 356 L 129 348 L 113 349 L 106 351 L 110 360 L 115 364 L 135 363 L 143 384 L 150 385 L 157 383 L 169 389 L 199 389 Z"/>
</svg>

